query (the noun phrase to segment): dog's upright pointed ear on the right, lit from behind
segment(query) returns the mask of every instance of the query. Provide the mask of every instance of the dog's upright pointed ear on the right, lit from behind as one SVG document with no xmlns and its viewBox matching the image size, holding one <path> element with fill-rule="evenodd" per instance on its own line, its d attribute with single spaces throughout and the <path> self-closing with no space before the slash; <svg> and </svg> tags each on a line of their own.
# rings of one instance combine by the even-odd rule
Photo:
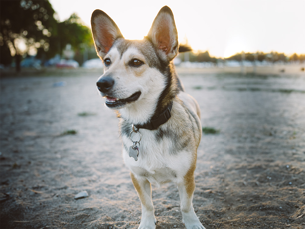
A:
<svg viewBox="0 0 305 229">
<path fill-rule="evenodd" d="M 173 60 L 177 56 L 178 32 L 174 15 L 168 6 L 160 9 L 147 36 L 157 49 L 165 53 L 167 60 Z"/>
</svg>

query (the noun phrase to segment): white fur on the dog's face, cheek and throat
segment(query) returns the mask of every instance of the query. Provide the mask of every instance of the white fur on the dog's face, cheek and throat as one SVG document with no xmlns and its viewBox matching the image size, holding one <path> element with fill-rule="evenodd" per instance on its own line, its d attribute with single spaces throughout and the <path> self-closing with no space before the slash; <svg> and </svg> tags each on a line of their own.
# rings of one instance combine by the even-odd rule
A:
<svg viewBox="0 0 305 229">
<path fill-rule="evenodd" d="M 114 89 L 118 98 L 127 98 L 136 91 L 141 91 L 140 98 L 134 103 L 127 104 L 119 111 L 121 117 L 131 123 L 145 123 L 156 109 L 156 98 L 158 98 L 160 91 L 164 88 L 163 77 L 159 71 L 150 68 L 147 65 L 143 66 L 138 72 L 131 71 L 124 67 L 126 63 L 135 58 L 144 60 L 145 57 L 139 53 L 135 47 L 128 48 L 120 57 L 117 49 L 111 49 L 105 58 L 110 57 L 114 63 L 112 65 L 113 79 L 120 82 Z M 136 69 L 139 70 L 139 69 Z M 138 75 L 141 75 L 139 77 Z M 158 75 L 158 77 L 156 77 Z M 124 77 L 123 77 L 124 76 Z M 150 85 L 147 87 L 147 85 Z"/>
</svg>

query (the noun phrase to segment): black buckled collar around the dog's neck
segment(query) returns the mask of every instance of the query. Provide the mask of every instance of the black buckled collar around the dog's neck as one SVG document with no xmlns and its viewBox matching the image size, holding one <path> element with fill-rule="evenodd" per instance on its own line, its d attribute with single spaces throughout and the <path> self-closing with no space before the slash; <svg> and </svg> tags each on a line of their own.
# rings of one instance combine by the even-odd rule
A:
<svg viewBox="0 0 305 229">
<path fill-rule="evenodd" d="M 145 123 L 144 125 L 135 125 L 137 129 L 149 129 L 154 130 L 157 129 L 160 125 L 167 122 L 168 119 L 170 119 L 171 114 L 171 108 L 173 107 L 173 102 L 171 102 L 165 109 L 162 111 L 162 113 L 158 116 L 152 116 L 150 122 Z"/>
</svg>

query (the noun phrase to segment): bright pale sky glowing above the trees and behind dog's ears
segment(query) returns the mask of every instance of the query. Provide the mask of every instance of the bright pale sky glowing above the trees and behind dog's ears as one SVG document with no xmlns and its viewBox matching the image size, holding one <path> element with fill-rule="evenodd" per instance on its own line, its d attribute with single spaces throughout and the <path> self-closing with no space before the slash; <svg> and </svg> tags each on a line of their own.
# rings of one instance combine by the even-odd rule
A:
<svg viewBox="0 0 305 229">
<path fill-rule="evenodd" d="M 211 56 L 276 51 L 305 53 L 305 0 L 49 0 L 61 21 L 72 13 L 90 27 L 95 9 L 107 13 L 126 39 L 147 35 L 159 10 L 174 13 L 180 43 Z M 180 2 L 180 3 L 179 3 Z"/>
</svg>

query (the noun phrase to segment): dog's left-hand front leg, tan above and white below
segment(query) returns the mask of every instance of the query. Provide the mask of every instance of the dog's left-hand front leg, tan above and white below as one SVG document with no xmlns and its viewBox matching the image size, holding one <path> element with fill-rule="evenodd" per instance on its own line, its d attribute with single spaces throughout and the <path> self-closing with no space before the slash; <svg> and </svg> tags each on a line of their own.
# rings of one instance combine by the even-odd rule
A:
<svg viewBox="0 0 305 229">
<path fill-rule="evenodd" d="M 133 173 L 130 173 L 130 176 L 142 206 L 141 223 L 138 229 L 155 229 L 156 218 L 152 203 L 151 185 L 146 178 L 137 179 Z"/>
</svg>

